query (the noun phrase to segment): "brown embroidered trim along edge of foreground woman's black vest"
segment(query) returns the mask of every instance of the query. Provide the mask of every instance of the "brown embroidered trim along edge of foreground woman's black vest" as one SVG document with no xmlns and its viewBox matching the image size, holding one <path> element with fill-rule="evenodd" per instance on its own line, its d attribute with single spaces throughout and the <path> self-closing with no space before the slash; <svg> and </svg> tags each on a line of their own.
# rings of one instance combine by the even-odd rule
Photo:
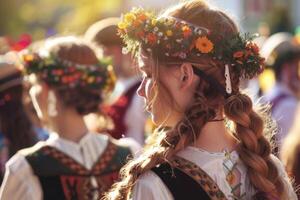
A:
<svg viewBox="0 0 300 200">
<path fill-rule="evenodd" d="M 212 178 L 194 163 L 176 156 L 172 164 L 199 183 L 212 200 L 227 200 L 224 193 Z"/>
</svg>

